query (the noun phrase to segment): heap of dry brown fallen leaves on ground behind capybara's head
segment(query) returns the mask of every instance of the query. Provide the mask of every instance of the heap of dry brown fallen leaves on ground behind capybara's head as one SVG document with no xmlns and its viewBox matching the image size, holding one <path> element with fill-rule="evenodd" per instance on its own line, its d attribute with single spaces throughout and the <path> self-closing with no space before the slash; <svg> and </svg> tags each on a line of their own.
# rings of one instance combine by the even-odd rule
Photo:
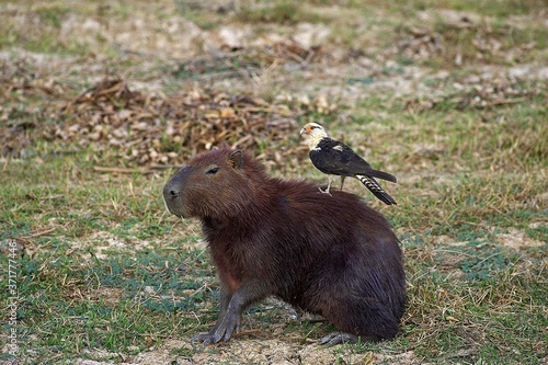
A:
<svg viewBox="0 0 548 365">
<path fill-rule="evenodd" d="M 266 56 L 262 64 L 290 59 L 304 65 L 313 59 L 317 50 L 279 43 L 269 53 L 263 52 Z M 238 58 L 236 66 L 233 57 L 216 58 L 216 62 L 247 72 L 249 65 Z M 183 70 L 199 76 L 216 69 L 217 64 L 198 67 L 202 64 L 193 61 Z M 296 118 L 311 109 L 326 112 L 321 103 L 270 103 L 252 94 L 198 87 L 169 96 L 133 91 L 126 80 L 117 77 L 105 77 L 78 96 L 67 98 L 71 93 L 68 84 L 28 72 L 24 61 L 3 62 L 0 72 L 3 94 L 19 105 L 0 111 L 0 118 L 7 121 L 0 126 L 2 157 L 31 155 L 33 142 L 41 137 L 71 147 L 93 146 L 122 158 L 122 164 L 174 164 L 213 147 L 260 150 L 266 141 L 281 147 L 271 149 L 267 159 L 281 161 L 287 157 L 292 161 L 296 150 L 301 149 L 298 142 L 287 144 L 295 135 Z M 36 98 L 43 100 L 41 107 L 33 110 Z M 21 114 L 25 114 L 26 122 L 19 122 Z"/>
</svg>

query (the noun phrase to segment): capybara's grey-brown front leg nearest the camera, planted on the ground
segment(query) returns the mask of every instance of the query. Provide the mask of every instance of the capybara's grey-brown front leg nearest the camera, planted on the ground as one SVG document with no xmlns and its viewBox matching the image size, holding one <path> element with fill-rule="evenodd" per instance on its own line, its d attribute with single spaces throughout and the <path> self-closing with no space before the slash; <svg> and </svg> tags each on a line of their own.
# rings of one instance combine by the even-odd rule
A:
<svg viewBox="0 0 548 365">
<path fill-rule="evenodd" d="M 199 333 L 193 338 L 204 344 L 228 341 L 232 333 L 240 332 L 241 316 L 246 308 L 259 299 L 264 298 L 269 289 L 264 281 L 248 280 L 241 283 L 236 292 L 222 285 L 220 288 L 220 313 L 215 326 L 207 333 Z"/>
</svg>

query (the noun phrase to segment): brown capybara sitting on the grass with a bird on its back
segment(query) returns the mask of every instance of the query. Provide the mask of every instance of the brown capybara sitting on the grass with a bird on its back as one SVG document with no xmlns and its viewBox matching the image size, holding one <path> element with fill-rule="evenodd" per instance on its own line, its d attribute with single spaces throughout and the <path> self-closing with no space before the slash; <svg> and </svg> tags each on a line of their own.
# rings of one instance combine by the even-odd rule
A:
<svg viewBox="0 0 548 365">
<path fill-rule="evenodd" d="M 274 295 L 342 332 L 320 343 L 390 339 L 406 304 L 398 239 L 353 194 L 270 178 L 228 148 L 196 156 L 163 187 L 168 209 L 202 221 L 220 278 L 220 315 L 194 340 L 227 341 L 242 312 Z"/>
</svg>

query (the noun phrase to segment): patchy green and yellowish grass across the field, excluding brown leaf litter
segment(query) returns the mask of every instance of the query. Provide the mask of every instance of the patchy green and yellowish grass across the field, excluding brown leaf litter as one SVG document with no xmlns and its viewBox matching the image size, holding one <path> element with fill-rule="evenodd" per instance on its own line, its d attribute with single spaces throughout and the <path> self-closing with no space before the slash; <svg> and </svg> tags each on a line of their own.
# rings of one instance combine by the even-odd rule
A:
<svg viewBox="0 0 548 365">
<path fill-rule="evenodd" d="M 310 3 L 319 9 L 328 5 L 322 1 Z M 375 4 L 379 3 L 369 2 Z M 330 38 L 334 44 L 329 46 L 367 45 L 365 54 L 380 59 L 375 64 L 378 73 L 347 82 L 344 78 L 339 80 L 358 88 L 355 89 L 361 94 L 358 98 L 346 101 L 335 95 L 339 105 L 333 112 L 322 113 L 310 106 L 295 121 L 296 130 L 307 122 L 324 124 L 334 136 L 366 156 L 374 167 L 399 179 L 399 184 L 386 186 L 398 201 L 396 207 L 373 201 L 356 182 L 349 182 L 345 189 L 383 212 L 402 242 L 409 305 L 400 334 L 393 341 L 377 344 L 312 347 L 315 353 L 326 354 L 326 362 L 546 362 L 546 85 L 534 78 L 484 78 L 478 70 L 480 67 L 506 67 L 514 61 L 507 62 L 498 55 L 479 60 L 470 46 L 477 36 L 492 34 L 503 47 L 520 56 L 520 62 L 545 60 L 541 38 L 546 31 L 538 26 L 535 16 L 524 28 L 510 27 L 512 22 L 505 10 L 510 9 L 509 4 L 516 4 L 516 12 L 523 16 L 534 14 L 539 7 L 533 0 L 502 1 L 500 7 L 445 1 L 444 8 L 478 12 L 481 16 L 494 18 L 499 25 L 493 26 L 492 33 L 482 27 L 483 23 L 459 33 L 439 19 L 424 24 L 442 34 L 448 48 L 468 47 L 465 50 L 469 64 L 461 68 L 452 65 L 452 55 L 418 59 L 392 52 L 387 56 L 395 37 L 401 36 L 398 32 L 416 25 L 414 19 L 402 19 L 401 14 L 431 9 L 434 4 L 430 1 L 383 3 L 376 11 L 386 15 L 386 22 L 377 19 L 378 28 L 369 31 L 373 33 L 367 36 L 357 31 L 363 24 L 354 22 L 361 19 L 358 14 L 368 11 L 361 2 L 339 4 L 344 14 L 350 14 L 344 19 L 335 13 L 316 15 L 322 12 L 305 10 L 309 3 L 276 1 L 258 8 L 244 7 L 222 20 L 222 24 L 237 21 L 259 27 L 263 22 L 284 26 L 302 21 L 324 22 L 335 30 Z M 149 8 L 139 2 L 139 9 Z M 158 16 L 164 19 L 169 13 L 167 9 L 157 9 Z M 104 39 L 94 48 L 81 47 L 76 38 L 61 45 L 57 38 L 59 26 L 70 14 L 112 16 L 119 22 L 130 19 L 133 10 L 123 2 L 101 12 L 92 5 L 72 10 L 62 3 L 28 11 L 44 31 L 31 28 L 25 33 L 13 18 L 2 18 L 2 50 L 15 52 L 11 47 L 18 45 L 59 58 L 67 54 L 90 56 L 95 52 L 106 55 L 105 62 L 111 67 L 124 70 L 128 82 L 147 78 L 148 69 L 140 58 L 118 59 Z M 204 30 L 215 30 L 218 26 L 215 19 L 220 16 L 199 9 L 186 9 L 182 15 L 196 20 Z M 367 16 L 374 14 L 363 19 Z M 353 27 L 356 24 L 358 26 Z M 1 32 L 2 26 L 8 27 L 7 32 Z M 393 32 L 387 34 L 384 26 Z M 532 42 L 535 45 L 527 55 L 516 50 Z M 387 60 L 400 61 L 387 64 Z M 93 65 L 98 62 L 101 61 Z M 169 61 L 148 58 L 147 62 L 155 76 L 173 76 L 158 71 L 173 70 Z M 215 70 L 218 65 L 213 65 Z M 258 65 L 259 69 L 261 64 L 258 61 Z M 71 85 L 73 94 L 66 95 L 67 99 L 89 88 L 90 79 L 102 72 L 82 72 L 77 66 L 80 65 L 53 71 L 47 68 L 55 66 L 45 67 L 48 76 Z M 406 78 L 409 70 L 418 66 L 433 70 L 434 76 L 418 81 L 427 92 L 375 89 L 376 82 Z M 42 71 L 39 65 L 27 68 L 36 75 Z M 233 69 L 239 66 L 235 65 Z M 447 71 L 446 78 L 436 76 L 441 69 Z M 3 69 L 0 67 L 0 70 Z M 210 69 L 204 72 L 207 71 Z M 275 102 L 275 93 L 284 90 L 284 82 L 289 82 L 287 78 L 294 77 L 297 80 L 294 83 L 299 83 L 305 80 L 302 75 L 304 71 L 294 76 L 285 69 L 273 69 L 271 77 L 275 80 L 270 82 L 277 85 L 265 99 Z M 174 93 L 189 87 L 189 82 L 206 83 L 179 76 L 161 79 L 162 91 Z M 467 81 L 470 79 L 476 81 Z M 8 85 L 10 80 L 0 78 Z M 313 82 L 315 79 L 309 78 L 301 83 Z M 456 88 L 457 83 L 463 88 Z M 32 84 L 2 93 L 0 127 L 3 130 L 9 132 L 16 124 L 62 123 L 42 112 L 59 100 L 38 93 Z M 259 334 L 236 338 L 219 346 L 189 343 L 193 334 L 207 330 L 218 315 L 218 281 L 197 224 L 176 219 L 164 209 L 161 190 L 173 171 L 98 172 L 93 169 L 96 166 L 136 166 L 93 144 L 82 147 L 50 140 L 32 135 L 33 130 L 25 132 L 26 136 L 33 136 L 34 144 L 28 146 L 24 158 L 0 160 L 0 265 L 7 273 L 15 269 L 19 290 L 15 315 L 22 364 L 71 363 L 78 358 L 129 362 L 132 356 L 158 349 L 168 349 L 175 362 L 198 363 L 213 358 L 230 363 L 220 356 L 236 353 L 235 349 L 253 341 L 259 341 L 261 349 L 278 340 L 304 351 L 313 346 L 310 341 L 332 330 L 328 323 L 315 320 L 292 320 L 283 305 L 266 301 L 253 306 L 244 319 L 244 330 L 259 329 Z M 254 152 L 264 155 L 297 145 L 295 133 L 288 130 L 283 141 L 260 140 Z M 161 142 L 168 150 L 178 147 L 170 139 Z M 272 163 L 270 171 L 276 175 L 324 179 L 310 168 L 305 153 L 293 158 L 299 159 L 298 168 Z M 9 267 L 9 259 L 16 264 Z M 8 287 L 9 280 L 10 275 L 0 276 L 0 285 Z M 0 303 L 11 300 L 9 290 L 0 290 Z M 4 320 L 8 317 L 1 322 L 2 349 L 9 341 L 10 324 Z M 181 342 L 172 345 L 173 340 Z M 253 347 L 248 353 L 261 351 Z M 0 361 L 11 358 L 9 353 L 0 354 Z M 243 361 L 233 358 L 233 362 Z"/>
</svg>

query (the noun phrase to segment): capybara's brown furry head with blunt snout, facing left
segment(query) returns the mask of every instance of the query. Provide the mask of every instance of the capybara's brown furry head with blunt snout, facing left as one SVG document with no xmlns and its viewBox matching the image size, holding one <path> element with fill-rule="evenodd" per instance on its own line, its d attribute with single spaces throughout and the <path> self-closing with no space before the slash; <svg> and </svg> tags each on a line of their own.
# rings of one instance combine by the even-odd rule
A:
<svg viewBox="0 0 548 365">
<path fill-rule="evenodd" d="M 261 179 L 265 179 L 264 169 L 248 153 L 216 149 L 179 170 L 163 186 L 163 199 L 179 217 L 236 216 L 253 198 Z"/>
</svg>

